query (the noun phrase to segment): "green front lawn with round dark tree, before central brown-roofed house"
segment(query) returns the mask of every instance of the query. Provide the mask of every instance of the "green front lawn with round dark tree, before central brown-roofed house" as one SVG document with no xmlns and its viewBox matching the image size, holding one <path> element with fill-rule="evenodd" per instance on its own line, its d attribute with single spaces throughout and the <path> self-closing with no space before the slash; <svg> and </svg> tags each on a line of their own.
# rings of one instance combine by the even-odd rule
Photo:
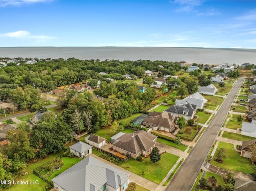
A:
<svg viewBox="0 0 256 191">
<path fill-rule="evenodd" d="M 160 184 L 178 159 L 178 156 L 165 153 L 161 155 L 161 160 L 158 161 L 157 165 L 152 163 L 150 158 L 145 158 L 142 162 L 130 158 L 128 161 L 123 163 L 121 167 L 150 181 Z M 142 175 L 142 171 L 144 171 L 144 175 Z"/>
</svg>

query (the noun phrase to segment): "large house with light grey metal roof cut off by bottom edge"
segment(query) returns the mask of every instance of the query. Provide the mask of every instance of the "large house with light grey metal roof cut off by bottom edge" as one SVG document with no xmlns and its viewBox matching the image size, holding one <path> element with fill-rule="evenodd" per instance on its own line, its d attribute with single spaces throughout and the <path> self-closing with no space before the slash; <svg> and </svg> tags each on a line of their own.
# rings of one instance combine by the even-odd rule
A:
<svg viewBox="0 0 256 191">
<path fill-rule="evenodd" d="M 130 174 L 88 156 L 52 179 L 57 191 L 124 191 Z"/>
</svg>

